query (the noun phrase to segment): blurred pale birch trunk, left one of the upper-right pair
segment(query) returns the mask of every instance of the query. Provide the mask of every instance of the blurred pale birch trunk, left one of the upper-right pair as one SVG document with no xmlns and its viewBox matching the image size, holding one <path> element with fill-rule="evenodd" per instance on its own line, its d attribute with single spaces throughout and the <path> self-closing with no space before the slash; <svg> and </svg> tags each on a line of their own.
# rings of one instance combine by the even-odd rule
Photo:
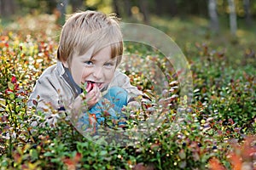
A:
<svg viewBox="0 0 256 170">
<path fill-rule="evenodd" d="M 216 0 L 208 0 L 208 10 L 210 16 L 210 26 L 214 33 L 218 33 L 218 14 Z"/>
</svg>

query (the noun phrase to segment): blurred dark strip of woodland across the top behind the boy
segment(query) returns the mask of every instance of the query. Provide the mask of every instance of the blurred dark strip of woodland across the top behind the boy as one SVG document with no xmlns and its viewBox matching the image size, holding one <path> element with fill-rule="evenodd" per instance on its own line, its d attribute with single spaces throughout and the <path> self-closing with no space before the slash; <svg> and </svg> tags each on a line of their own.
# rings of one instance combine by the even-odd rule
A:
<svg viewBox="0 0 256 170">
<path fill-rule="evenodd" d="M 215 2 L 213 2 L 215 1 Z M 230 30 L 236 32 L 237 17 L 246 21 L 247 25 L 255 20 L 256 0 L 0 0 L 0 15 L 10 14 L 52 14 L 55 12 L 60 24 L 65 20 L 68 3 L 68 12 L 79 9 L 101 10 L 102 12 L 115 12 L 121 18 L 136 18 L 146 23 L 150 14 L 187 17 L 200 15 L 211 20 L 212 30 L 218 30 L 216 18 L 230 14 Z M 214 9 L 214 5 L 217 7 Z M 57 9 L 57 10 L 56 10 Z M 217 10 L 217 11 L 216 11 Z M 215 11 L 215 12 L 214 12 Z M 132 12 L 137 12 L 132 14 Z M 217 13 L 218 12 L 218 13 Z"/>
</svg>

